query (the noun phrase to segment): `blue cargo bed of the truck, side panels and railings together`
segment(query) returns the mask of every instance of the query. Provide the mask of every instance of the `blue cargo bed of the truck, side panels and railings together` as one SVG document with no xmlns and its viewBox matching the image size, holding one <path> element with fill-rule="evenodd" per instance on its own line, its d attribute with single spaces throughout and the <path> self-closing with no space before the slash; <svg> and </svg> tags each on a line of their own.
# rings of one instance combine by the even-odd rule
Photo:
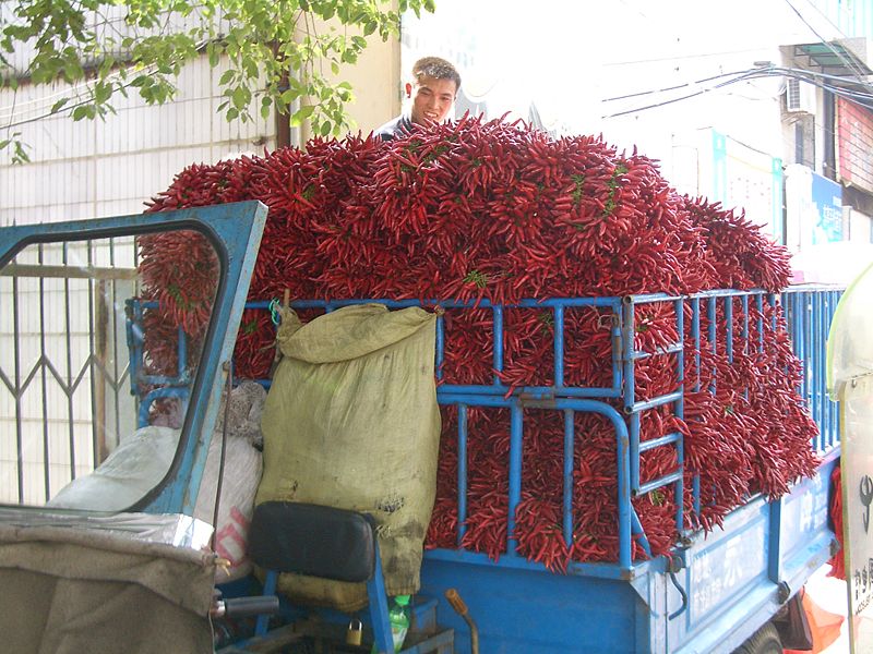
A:
<svg viewBox="0 0 873 654">
<path fill-rule="evenodd" d="M 730 652 L 768 621 L 788 595 L 803 584 L 814 569 L 829 558 L 833 532 L 827 523 L 829 475 L 838 457 L 837 411 L 828 405 L 824 389 L 823 358 L 826 327 L 839 298 L 836 289 L 789 289 L 781 295 L 760 290 L 708 291 L 690 296 L 666 294 L 626 298 L 529 300 L 507 306 L 479 302 L 419 302 L 382 300 L 297 301 L 291 306 L 330 312 L 339 306 L 379 302 L 393 308 L 423 305 L 442 308 L 485 308 L 492 315 L 494 374 L 490 383 L 453 385 L 445 383 L 446 325 L 440 316 L 436 327 L 438 399 L 458 411 L 458 520 L 455 542 L 461 547 L 467 516 L 468 493 L 466 449 L 467 413 L 471 408 L 503 408 L 510 411 L 510 469 L 506 553 L 499 561 L 465 549 L 433 549 L 426 553 L 422 593 L 441 596 L 457 588 L 475 616 L 483 643 L 527 652 L 574 651 L 579 643 L 597 643 L 610 652 Z M 635 538 L 646 549 L 646 537 L 631 500 L 636 495 L 672 485 L 677 497 L 684 493 L 684 441 L 681 433 L 639 441 L 641 414 L 655 407 L 672 405 L 684 415 L 684 389 L 701 390 L 702 348 L 723 354 L 731 362 L 737 352 L 763 351 L 764 314 L 780 304 L 793 351 L 803 363 L 799 389 L 810 403 L 821 435 L 810 444 L 823 459 L 818 474 L 796 484 L 790 495 L 777 501 L 750 497 L 725 520 L 723 529 L 709 534 L 689 529 L 683 502 L 677 501 L 675 525 L 679 547 L 671 560 L 632 558 Z M 675 317 L 677 339 L 653 352 L 634 344 L 638 307 L 662 304 Z M 270 302 L 250 302 L 248 308 L 268 311 Z M 555 336 L 554 384 L 510 388 L 501 383 L 504 364 L 504 318 L 511 308 L 545 308 L 552 312 Z M 567 387 L 564 382 L 565 340 L 561 327 L 567 311 L 599 307 L 610 313 L 612 383 L 603 387 Z M 757 314 L 756 329 L 750 316 Z M 720 315 L 720 319 L 717 319 Z M 717 329 L 727 330 L 723 341 Z M 702 332 L 705 324 L 705 332 Z M 775 314 L 769 327 L 776 327 Z M 753 340 L 753 332 L 758 338 Z M 739 336 L 738 336 L 739 334 Z M 691 349 L 685 349 L 689 344 Z M 636 365 L 649 356 L 663 355 L 675 366 L 675 386 L 655 398 L 634 395 Z M 690 375 L 692 368 L 695 374 Z M 710 386 L 710 391 L 715 387 Z M 618 409 L 615 405 L 618 405 Z M 596 412 L 610 421 L 615 432 L 618 463 L 619 554 L 612 562 L 572 562 L 566 574 L 528 561 L 515 552 L 515 508 L 522 491 L 522 445 L 524 409 L 561 413 L 564 424 L 564 464 L 561 530 L 567 543 L 573 531 L 572 452 L 578 439 L 573 434 L 576 412 Z M 641 483 L 639 456 L 657 447 L 673 447 L 677 469 L 659 479 Z M 462 463 L 463 461 L 463 463 Z M 699 475 L 691 479 L 692 507 L 701 511 Z M 531 598 L 536 602 L 531 604 Z M 585 616 L 579 620 L 579 616 Z M 458 633 L 465 625 L 441 604 L 441 617 Z M 543 632 L 548 632 L 543 634 Z M 458 639 L 464 650 L 464 639 Z M 576 650 L 577 651 L 577 650 Z"/>
</svg>

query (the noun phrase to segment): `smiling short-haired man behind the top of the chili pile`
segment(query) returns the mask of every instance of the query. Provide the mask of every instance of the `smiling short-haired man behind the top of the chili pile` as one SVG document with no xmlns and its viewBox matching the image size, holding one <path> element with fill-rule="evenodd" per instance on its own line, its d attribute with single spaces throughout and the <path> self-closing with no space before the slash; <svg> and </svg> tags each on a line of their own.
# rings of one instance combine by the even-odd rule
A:
<svg viewBox="0 0 873 654">
<path fill-rule="evenodd" d="M 424 57 L 412 65 L 412 81 L 405 86 L 407 99 L 412 100 L 409 113 L 386 122 L 373 132 L 375 136 L 391 141 L 409 132 L 414 124 L 441 123 L 449 116 L 461 88 L 454 65 L 439 57 Z"/>
</svg>

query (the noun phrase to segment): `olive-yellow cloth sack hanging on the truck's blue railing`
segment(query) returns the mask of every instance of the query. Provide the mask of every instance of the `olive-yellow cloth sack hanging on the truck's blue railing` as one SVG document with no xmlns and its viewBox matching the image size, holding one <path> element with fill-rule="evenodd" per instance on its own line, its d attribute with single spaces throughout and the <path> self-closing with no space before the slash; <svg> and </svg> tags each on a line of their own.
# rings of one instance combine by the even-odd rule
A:
<svg viewBox="0 0 873 654">
<path fill-rule="evenodd" d="M 371 514 L 390 595 L 418 591 L 436 483 L 436 316 L 347 306 L 300 326 L 283 313 L 283 360 L 261 428 L 256 504 L 301 501 Z M 357 610 L 363 584 L 283 574 L 297 602 Z"/>
</svg>

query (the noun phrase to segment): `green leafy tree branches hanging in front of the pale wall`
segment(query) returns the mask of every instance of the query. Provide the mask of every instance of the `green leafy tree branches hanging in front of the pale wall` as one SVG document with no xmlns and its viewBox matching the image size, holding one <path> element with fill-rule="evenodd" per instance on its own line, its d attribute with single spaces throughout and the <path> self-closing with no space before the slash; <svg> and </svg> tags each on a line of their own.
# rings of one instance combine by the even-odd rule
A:
<svg viewBox="0 0 873 654">
<path fill-rule="evenodd" d="M 0 88 L 22 80 L 69 83 L 49 114 L 73 120 L 113 112 L 116 94 L 150 105 L 171 100 L 180 71 L 206 56 L 222 66 L 219 111 L 228 121 L 264 118 L 273 108 L 318 134 L 351 128 L 347 82 L 367 38 L 397 34 L 400 14 L 433 11 L 434 0 L 10 0 L 0 3 Z M 17 51 L 31 52 L 13 70 Z M 22 144 L 12 130 L 0 146 Z"/>
</svg>

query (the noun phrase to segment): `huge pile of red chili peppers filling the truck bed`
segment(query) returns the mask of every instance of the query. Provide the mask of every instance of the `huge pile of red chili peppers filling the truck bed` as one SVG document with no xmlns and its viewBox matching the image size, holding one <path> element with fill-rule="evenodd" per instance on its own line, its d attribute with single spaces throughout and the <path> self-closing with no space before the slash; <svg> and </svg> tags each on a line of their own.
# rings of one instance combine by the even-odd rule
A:
<svg viewBox="0 0 873 654">
<path fill-rule="evenodd" d="M 760 288 L 776 292 L 790 277 L 788 254 L 742 215 L 678 195 L 654 161 L 620 154 L 591 136 L 553 138 L 504 121 L 465 118 L 383 143 L 350 136 L 313 140 L 213 166 L 191 166 L 154 198 L 151 210 L 260 199 L 270 208 L 250 299 L 584 298 L 630 293 L 693 293 Z M 177 326 L 193 351 L 214 292 L 216 263 L 196 234 L 140 240 L 146 351 L 153 372 L 175 370 Z M 645 411 L 641 439 L 684 434 L 685 496 L 672 486 L 634 499 L 654 555 L 677 538 L 675 502 L 687 528 L 711 529 L 755 493 L 778 497 L 815 470 L 815 424 L 796 392 L 799 363 L 779 307 L 742 314 L 733 301 L 733 353 L 726 354 L 723 303 L 716 343 L 693 342 L 685 320 L 685 413 L 670 405 Z M 610 311 L 565 316 L 565 384 L 611 385 Z M 654 351 L 675 341 L 671 303 L 641 305 L 635 346 Z M 739 325 L 748 323 L 748 335 Z M 491 312 L 445 314 L 443 382 L 491 384 Z M 236 372 L 265 377 L 274 331 L 266 312 L 247 311 L 236 347 Z M 549 311 L 505 311 L 504 370 L 509 387 L 553 384 L 553 320 Z M 715 346 L 715 347 L 714 347 Z M 699 362 L 698 362 L 699 360 Z M 636 365 L 637 399 L 675 390 L 675 356 Z M 510 420 L 501 409 L 467 414 L 468 493 L 457 519 L 456 407 L 443 408 L 438 496 L 429 547 L 465 547 L 497 559 L 506 550 Z M 615 435 L 595 414 L 575 416 L 573 524 L 562 533 L 563 417 L 527 410 L 518 552 L 551 570 L 571 561 L 615 560 Z M 641 481 L 677 469 L 672 447 L 641 457 Z M 699 499 L 692 495 L 699 475 Z M 463 533 L 462 533 L 463 532 Z M 634 556 L 644 556 L 638 542 Z"/>
</svg>

